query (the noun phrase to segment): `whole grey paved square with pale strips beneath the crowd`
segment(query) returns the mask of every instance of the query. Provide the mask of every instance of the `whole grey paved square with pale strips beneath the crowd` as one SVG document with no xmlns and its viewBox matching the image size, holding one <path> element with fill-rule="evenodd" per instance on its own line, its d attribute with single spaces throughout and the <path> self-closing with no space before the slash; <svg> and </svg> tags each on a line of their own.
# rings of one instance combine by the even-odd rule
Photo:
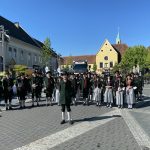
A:
<svg viewBox="0 0 150 150">
<path fill-rule="evenodd" d="M 5 111 L 1 104 L 0 150 L 149 150 L 150 98 L 136 109 L 72 106 L 73 125 L 60 125 L 60 106 Z M 147 94 L 147 97 L 146 97 Z"/>
</svg>

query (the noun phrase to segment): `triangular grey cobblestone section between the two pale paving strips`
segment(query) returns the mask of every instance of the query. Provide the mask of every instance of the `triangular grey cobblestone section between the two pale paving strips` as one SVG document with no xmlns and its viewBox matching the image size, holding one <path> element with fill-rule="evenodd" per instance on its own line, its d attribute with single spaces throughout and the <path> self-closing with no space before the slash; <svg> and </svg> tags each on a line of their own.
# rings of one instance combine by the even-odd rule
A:
<svg viewBox="0 0 150 150">
<path fill-rule="evenodd" d="M 140 150 L 122 117 L 99 126 L 52 150 Z"/>
</svg>

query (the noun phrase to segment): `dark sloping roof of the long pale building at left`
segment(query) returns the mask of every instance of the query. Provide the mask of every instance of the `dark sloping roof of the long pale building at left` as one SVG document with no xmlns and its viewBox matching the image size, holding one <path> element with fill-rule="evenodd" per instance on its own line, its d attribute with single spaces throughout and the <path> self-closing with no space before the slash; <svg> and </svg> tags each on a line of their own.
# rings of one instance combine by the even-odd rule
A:
<svg viewBox="0 0 150 150">
<path fill-rule="evenodd" d="M 13 22 L 0 16 L 0 25 L 3 25 L 7 34 L 25 43 L 39 47 L 39 45 L 30 37 L 20 26 L 16 26 Z"/>
</svg>

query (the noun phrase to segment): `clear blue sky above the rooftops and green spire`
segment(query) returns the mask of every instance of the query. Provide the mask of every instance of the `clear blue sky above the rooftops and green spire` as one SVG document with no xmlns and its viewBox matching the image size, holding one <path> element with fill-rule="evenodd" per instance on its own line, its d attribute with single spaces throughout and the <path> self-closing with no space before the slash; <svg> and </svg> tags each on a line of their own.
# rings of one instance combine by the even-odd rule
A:
<svg viewBox="0 0 150 150">
<path fill-rule="evenodd" d="M 150 46 L 150 0 L 1 0 L 0 15 L 62 56 L 96 54 L 105 39 Z"/>
</svg>

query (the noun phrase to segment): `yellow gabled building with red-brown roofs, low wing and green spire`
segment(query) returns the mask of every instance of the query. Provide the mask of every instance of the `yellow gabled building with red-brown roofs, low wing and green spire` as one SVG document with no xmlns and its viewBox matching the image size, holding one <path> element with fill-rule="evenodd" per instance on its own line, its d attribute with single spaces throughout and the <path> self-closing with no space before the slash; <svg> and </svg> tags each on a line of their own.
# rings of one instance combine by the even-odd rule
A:
<svg viewBox="0 0 150 150">
<path fill-rule="evenodd" d="M 128 46 L 121 43 L 119 33 L 116 38 L 116 44 L 111 44 L 107 39 L 101 45 L 96 55 L 85 56 L 68 56 L 63 57 L 64 62 L 61 65 L 65 68 L 68 65 L 71 68 L 72 62 L 77 60 L 87 60 L 89 71 L 93 71 L 93 66 L 96 64 L 97 73 L 107 72 L 113 69 L 115 64 L 121 61 L 121 58 Z"/>
</svg>

